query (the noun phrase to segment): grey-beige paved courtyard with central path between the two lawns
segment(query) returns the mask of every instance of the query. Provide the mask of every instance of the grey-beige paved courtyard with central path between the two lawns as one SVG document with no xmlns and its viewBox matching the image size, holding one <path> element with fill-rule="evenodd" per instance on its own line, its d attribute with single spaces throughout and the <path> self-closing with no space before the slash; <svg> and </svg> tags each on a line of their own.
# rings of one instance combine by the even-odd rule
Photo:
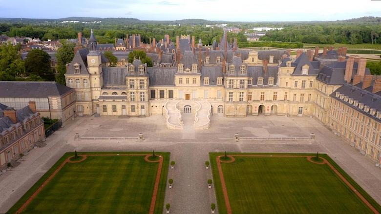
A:
<svg viewBox="0 0 381 214">
<path fill-rule="evenodd" d="M 144 141 L 74 140 L 80 136 L 134 136 L 143 133 Z M 239 141 L 240 136 L 309 136 L 315 140 Z M 208 130 L 169 130 L 164 116 L 151 117 L 77 117 L 49 136 L 47 145 L 31 150 L 20 166 L 0 178 L 0 212 L 7 212 L 66 152 L 161 151 L 170 152 L 176 161 L 168 169 L 173 188 L 165 191 L 163 204 L 170 213 L 210 213 L 217 204 L 215 189 L 208 189 L 212 171 L 204 163 L 210 152 L 326 153 L 378 203 L 381 203 L 381 170 L 339 136 L 310 117 L 211 117 Z M 167 167 L 168 168 L 168 167 Z M 215 184 L 215 182 L 214 182 Z M 162 210 L 164 212 L 164 205 Z M 160 212 L 161 213 L 161 212 Z M 216 213 L 219 213 L 217 208 Z"/>
</svg>

